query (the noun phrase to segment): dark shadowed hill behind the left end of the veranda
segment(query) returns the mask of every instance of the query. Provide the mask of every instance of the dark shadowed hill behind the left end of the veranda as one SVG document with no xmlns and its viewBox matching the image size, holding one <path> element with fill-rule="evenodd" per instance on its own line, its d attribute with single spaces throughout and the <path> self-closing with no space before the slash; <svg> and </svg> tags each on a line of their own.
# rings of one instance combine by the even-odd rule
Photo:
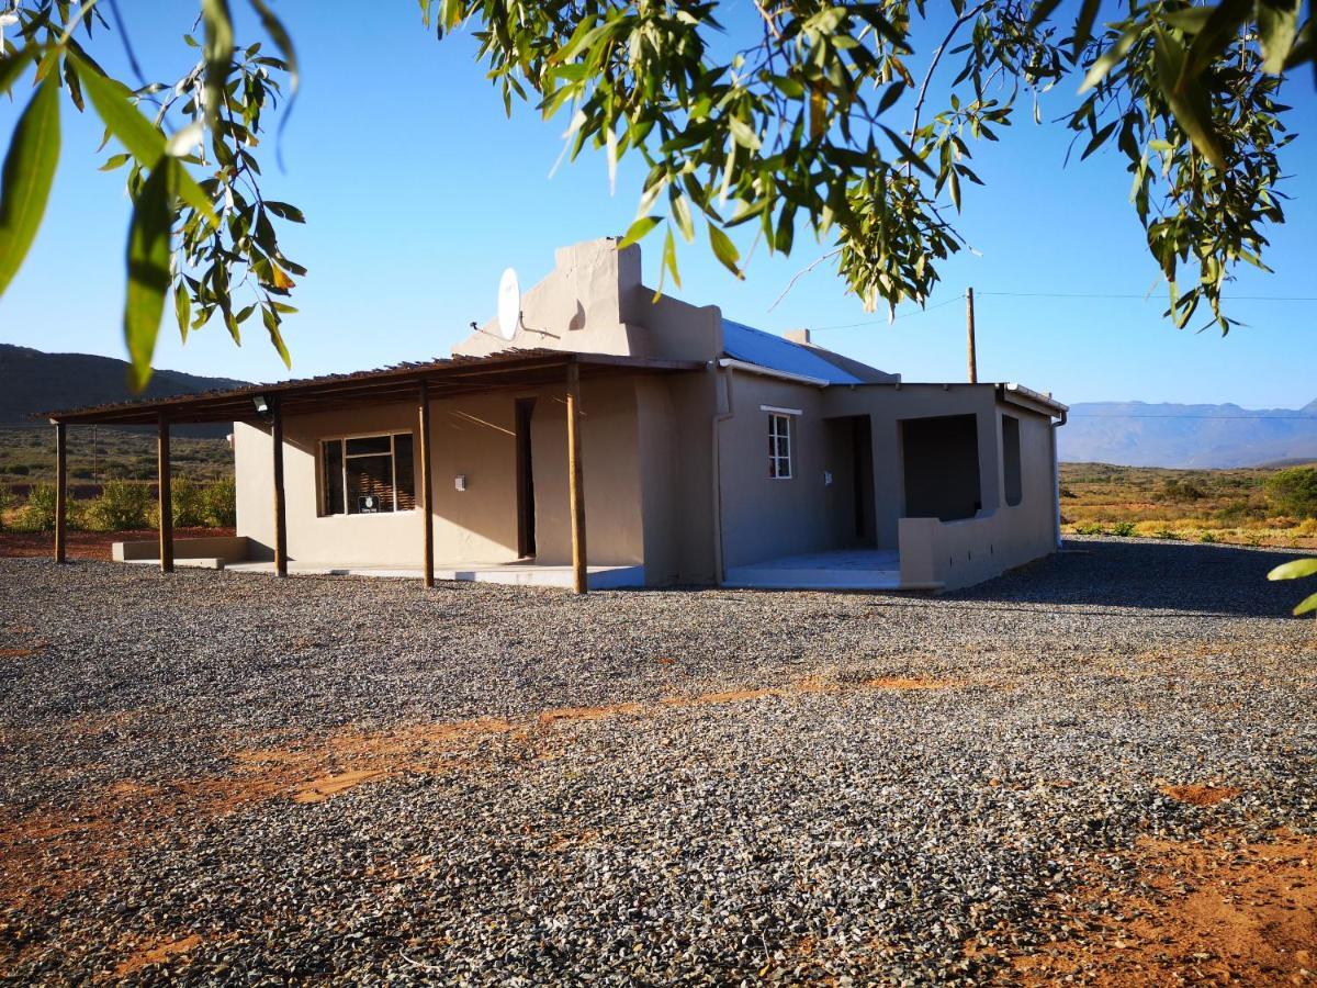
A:
<svg viewBox="0 0 1317 988">
<path fill-rule="evenodd" d="M 141 395 L 128 390 L 128 362 L 88 353 L 42 353 L 28 346 L 0 344 L 0 428 L 33 425 L 33 412 L 109 404 L 133 398 L 169 398 L 223 387 L 242 387 L 246 381 L 198 377 L 178 370 L 157 370 Z M 216 436 L 228 425 L 180 425 L 179 435 Z"/>
</svg>

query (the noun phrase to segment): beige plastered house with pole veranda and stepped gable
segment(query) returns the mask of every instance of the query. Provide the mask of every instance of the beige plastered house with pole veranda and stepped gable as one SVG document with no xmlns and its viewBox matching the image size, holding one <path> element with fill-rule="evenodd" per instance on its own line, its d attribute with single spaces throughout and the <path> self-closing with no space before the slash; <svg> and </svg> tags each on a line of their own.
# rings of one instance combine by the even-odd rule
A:
<svg viewBox="0 0 1317 988">
<path fill-rule="evenodd" d="M 162 565 L 955 589 L 1058 545 L 1047 395 L 656 298 L 611 238 L 560 249 L 520 310 L 450 360 L 50 418 L 157 423 L 165 462 L 170 423 L 234 423 L 236 537 L 117 549 Z"/>
</svg>

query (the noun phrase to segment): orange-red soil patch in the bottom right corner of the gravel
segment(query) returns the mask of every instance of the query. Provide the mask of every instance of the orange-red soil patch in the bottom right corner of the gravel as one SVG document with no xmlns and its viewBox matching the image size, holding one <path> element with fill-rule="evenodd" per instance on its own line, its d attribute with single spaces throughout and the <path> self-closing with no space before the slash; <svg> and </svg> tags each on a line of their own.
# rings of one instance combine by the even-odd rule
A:
<svg viewBox="0 0 1317 988">
<path fill-rule="evenodd" d="M 1081 902 L 1105 898 L 1110 908 L 1065 912 L 1068 929 L 1087 930 L 1083 939 L 1017 958 L 1004 980 L 1101 988 L 1317 981 L 1317 838 L 1144 838 L 1127 856 L 1147 892 L 1089 891 Z"/>
</svg>

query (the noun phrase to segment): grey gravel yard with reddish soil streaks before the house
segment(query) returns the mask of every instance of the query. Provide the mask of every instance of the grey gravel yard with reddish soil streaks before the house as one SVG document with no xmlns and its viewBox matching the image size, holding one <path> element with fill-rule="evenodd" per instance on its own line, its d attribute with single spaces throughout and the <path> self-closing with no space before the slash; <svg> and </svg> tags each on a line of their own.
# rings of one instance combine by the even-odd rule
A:
<svg viewBox="0 0 1317 988">
<path fill-rule="evenodd" d="M 946 597 L 0 559 L 0 980 L 1306 977 L 1284 556 L 1068 547 Z M 1135 935 L 1258 847 L 1271 954 Z"/>
</svg>

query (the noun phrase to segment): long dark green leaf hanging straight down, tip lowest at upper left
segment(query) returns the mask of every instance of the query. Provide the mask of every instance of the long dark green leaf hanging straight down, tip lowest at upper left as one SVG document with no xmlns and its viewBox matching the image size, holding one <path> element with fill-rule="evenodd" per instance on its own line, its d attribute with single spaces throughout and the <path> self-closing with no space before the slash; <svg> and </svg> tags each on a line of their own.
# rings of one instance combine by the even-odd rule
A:
<svg viewBox="0 0 1317 988">
<path fill-rule="evenodd" d="M 128 300 L 124 304 L 124 340 L 130 366 L 128 383 L 141 391 L 151 379 L 151 354 L 169 292 L 170 224 L 174 219 L 174 182 L 179 163 L 161 154 L 146 178 L 128 228 Z"/>
</svg>

